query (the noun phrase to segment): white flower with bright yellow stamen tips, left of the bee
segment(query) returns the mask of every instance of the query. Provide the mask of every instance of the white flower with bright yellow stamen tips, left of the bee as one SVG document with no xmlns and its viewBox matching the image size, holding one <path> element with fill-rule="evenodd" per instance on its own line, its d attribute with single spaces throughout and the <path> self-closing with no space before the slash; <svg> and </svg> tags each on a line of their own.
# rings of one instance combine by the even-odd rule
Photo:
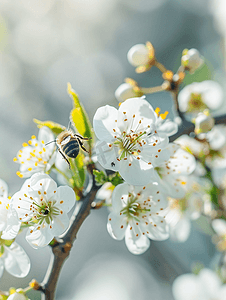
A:
<svg viewBox="0 0 226 300">
<path fill-rule="evenodd" d="M 48 171 L 55 160 L 55 144 L 45 147 L 45 143 L 54 140 L 54 135 L 48 127 L 39 130 L 38 139 L 33 135 L 28 143 L 23 143 L 14 161 L 20 164 L 17 172 L 19 177 L 30 177 L 37 172 Z"/>
</svg>

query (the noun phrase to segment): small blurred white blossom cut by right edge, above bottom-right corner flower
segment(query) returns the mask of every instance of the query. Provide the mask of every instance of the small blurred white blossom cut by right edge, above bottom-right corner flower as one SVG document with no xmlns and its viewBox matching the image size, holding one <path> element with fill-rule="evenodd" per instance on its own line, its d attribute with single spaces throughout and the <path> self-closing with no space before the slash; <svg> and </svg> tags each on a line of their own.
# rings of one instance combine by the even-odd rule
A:
<svg viewBox="0 0 226 300">
<path fill-rule="evenodd" d="M 217 244 L 219 251 L 226 251 L 226 221 L 222 219 L 215 219 L 212 221 L 212 227 L 216 232 L 213 241 Z"/>
</svg>

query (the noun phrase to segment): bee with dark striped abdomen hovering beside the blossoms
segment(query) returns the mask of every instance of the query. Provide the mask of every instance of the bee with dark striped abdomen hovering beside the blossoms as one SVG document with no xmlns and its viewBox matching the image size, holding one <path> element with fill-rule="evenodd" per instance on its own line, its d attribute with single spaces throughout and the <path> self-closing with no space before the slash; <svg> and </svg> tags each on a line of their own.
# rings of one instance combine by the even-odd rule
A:
<svg viewBox="0 0 226 300">
<path fill-rule="evenodd" d="M 77 133 L 74 133 L 71 129 L 62 131 L 56 138 L 56 140 L 46 143 L 46 145 L 55 142 L 59 153 L 65 159 L 71 168 L 68 158 L 76 158 L 79 154 L 79 149 L 89 153 L 83 145 L 82 141 L 88 141 L 91 138 L 85 138 Z"/>
</svg>

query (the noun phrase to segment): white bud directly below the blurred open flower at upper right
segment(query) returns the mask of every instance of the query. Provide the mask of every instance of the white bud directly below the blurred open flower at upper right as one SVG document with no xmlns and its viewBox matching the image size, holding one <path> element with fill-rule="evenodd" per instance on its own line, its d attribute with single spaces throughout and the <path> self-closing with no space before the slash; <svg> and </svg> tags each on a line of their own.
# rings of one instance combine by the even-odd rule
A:
<svg viewBox="0 0 226 300">
<path fill-rule="evenodd" d="M 214 126 L 214 118 L 210 115 L 209 110 L 205 109 L 202 113 L 199 113 L 195 119 L 195 133 L 207 133 Z"/>
</svg>

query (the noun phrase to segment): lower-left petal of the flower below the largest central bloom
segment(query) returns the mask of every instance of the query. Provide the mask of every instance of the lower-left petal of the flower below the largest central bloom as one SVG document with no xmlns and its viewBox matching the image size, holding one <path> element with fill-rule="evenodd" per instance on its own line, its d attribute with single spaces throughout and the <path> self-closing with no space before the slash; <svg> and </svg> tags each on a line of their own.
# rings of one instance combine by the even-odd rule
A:
<svg viewBox="0 0 226 300">
<path fill-rule="evenodd" d="M 114 212 L 108 216 L 107 230 L 111 237 L 116 240 L 122 240 L 125 236 L 127 222 L 125 216 Z"/>
</svg>

